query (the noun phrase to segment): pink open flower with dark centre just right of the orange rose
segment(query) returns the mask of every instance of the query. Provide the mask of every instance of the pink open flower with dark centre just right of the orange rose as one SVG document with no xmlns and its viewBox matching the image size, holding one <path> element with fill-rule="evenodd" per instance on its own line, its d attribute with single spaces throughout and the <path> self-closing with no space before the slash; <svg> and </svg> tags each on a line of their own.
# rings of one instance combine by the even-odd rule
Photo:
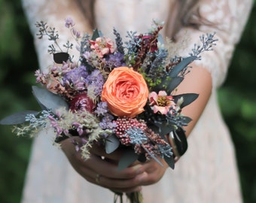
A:
<svg viewBox="0 0 256 203">
<path fill-rule="evenodd" d="M 151 92 L 148 98 L 149 105 L 153 106 L 154 114 L 160 112 L 165 115 L 169 112 L 171 106 L 175 109 L 175 102 L 173 101 L 172 95 L 167 95 L 166 91 L 159 91 L 158 95 L 157 92 Z"/>
</svg>

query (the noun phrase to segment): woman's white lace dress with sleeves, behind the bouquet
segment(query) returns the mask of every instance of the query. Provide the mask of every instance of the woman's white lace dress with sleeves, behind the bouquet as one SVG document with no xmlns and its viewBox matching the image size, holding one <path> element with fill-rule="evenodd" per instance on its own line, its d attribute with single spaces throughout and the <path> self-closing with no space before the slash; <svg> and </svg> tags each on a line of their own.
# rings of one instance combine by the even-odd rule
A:
<svg viewBox="0 0 256 203">
<path fill-rule="evenodd" d="M 97 0 L 94 8 L 96 25 L 105 35 L 111 35 L 113 27 L 123 35 L 126 30 L 146 32 L 152 19 L 169 22 L 167 18 L 170 17 L 174 2 Z M 33 35 L 37 32 L 34 25 L 38 20 L 44 20 L 59 29 L 60 34 L 64 34 L 63 40 L 69 36 L 69 32 L 62 28 L 65 17 L 72 16 L 78 29 L 79 25 L 84 23 L 84 17 L 79 12 L 70 13 L 71 3 L 64 0 L 48 1 L 50 7 L 45 9 L 46 3 L 45 0 L 23 0 Z M 60 4 L 70 9 L 59 11 Z M 175 170 L 167 169 L 158 183 L 143 187 L 145 203 L 242 201 L 233 143 L 218 108 L 216 89 L 223 83 L 227 74 L 234 46 L 239 41 L 251 5 L 251 0 L 203 0 L 200 2 L 199 11 L 205 21 L 201 22 L 199 29 L 181 28 L 176 35 L 178 40 L 181 36 L 186 36 L 184 43 L 193 46 L 202 33 L 216 32 L 219 41 L 215 51 L 204 54 L 203 60 L 200 61 L 212 74 L 212 96 L 188 138 L 187 153 L 175 165 Z M 56 12 L 61 12 L 62 18 L 59 18 Z M 190 20 L 197 22 L 199 18 L 194 14 Z M 83 25 L 80 28 L 82 29 Z M 44 43 L 35 40 L 42 69 L 52 64 L 47 54 L 47 46 L 47 40 Z M 181 53 L 187 53 L 190 48 L 182 50 Z M 113 193 L 88 183 L 77 174 L 62 150 L 53 147 L 50 134 L 41 132 L 41 135 L 35 138 L 24 186 L 23 203 L 112 203 Z"/>
</svg>

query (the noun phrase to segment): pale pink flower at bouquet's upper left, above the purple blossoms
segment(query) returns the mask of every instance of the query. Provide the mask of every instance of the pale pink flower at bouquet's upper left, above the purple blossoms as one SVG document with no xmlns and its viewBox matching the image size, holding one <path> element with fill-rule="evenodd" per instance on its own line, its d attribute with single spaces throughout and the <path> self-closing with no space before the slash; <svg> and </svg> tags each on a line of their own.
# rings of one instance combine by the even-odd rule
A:
<svg viewBox="0 0 256 203">
<path fill-rule="evenodd" d="M 96 41 L 90 41 L 90 48 L 95 50 L 99 58 L 105 54 L 114 53 L 114 41 L 110 38 L 96 38 Z"/>
</svg>

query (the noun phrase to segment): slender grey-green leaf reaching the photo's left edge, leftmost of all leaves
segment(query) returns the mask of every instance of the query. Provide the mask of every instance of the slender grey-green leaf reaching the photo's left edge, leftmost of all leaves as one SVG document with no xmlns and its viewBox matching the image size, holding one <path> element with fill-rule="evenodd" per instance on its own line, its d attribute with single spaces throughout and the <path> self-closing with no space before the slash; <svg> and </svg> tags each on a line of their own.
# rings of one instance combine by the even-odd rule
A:
<svg viewBox="0 0 256 203">
<path fill-rule="evenodd" d="M 20 111 L 15 114 L 11 114 L 8 117 L 0 120 L 1 125 L 18 125 L 26 122 L 26 115 L 34 114 L 37 116 L 40 112 L 38 111 Z"/>
</svg>

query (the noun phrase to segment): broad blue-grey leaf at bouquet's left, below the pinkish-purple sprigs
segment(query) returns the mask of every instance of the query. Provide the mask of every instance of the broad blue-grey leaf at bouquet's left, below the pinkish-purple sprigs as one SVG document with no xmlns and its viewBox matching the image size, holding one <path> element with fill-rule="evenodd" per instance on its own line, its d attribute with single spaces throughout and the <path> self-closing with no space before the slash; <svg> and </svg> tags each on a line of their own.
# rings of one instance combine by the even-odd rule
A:
<svg viewBox="0 0 256 203">
<path fill-rule="evenodd" d="M 39 105 L 44 108 L 50 109 L 56 114 L 56 110 L 59 108 L 66 108 L 69 110 L 67 102 L 58 95 L 49 92 L 47 89 L 40 88 L 38 86 L 32 86 L 32 93 L 38 101 Z"/>
</svg>

